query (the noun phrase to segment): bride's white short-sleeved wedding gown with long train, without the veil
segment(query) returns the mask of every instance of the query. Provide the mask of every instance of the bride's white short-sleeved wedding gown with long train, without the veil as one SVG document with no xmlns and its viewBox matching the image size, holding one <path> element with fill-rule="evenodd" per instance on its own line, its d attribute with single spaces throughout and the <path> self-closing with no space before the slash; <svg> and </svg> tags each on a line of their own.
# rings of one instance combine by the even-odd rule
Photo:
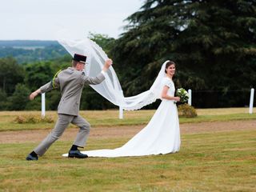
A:
<svg viewBox="0 0 256 192">
<path fill-rule="evenodd" d="M 167 94 L 174 96 L 174 82 L 163 78 L 162 84 L 169 88 Z M 175 153 L 180 148 L 178 111 L 174 101 L 162 99 L 150 122 L 125 145 L 114 150 L 82 151 L 89 157 L 125 157 L 150 154 Z M 67 154 L 64 154 L 66 156 Z"/>
</svg>

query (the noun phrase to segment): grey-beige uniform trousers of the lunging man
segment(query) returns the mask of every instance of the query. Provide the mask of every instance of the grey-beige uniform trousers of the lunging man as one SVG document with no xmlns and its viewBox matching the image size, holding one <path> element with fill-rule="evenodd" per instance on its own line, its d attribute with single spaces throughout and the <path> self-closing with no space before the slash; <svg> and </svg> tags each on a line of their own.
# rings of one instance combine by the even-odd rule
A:
<svg viewBox="0 0 256 192">
<path fill-rule="evenodd" d="M 69 126 L 70 122 L 80 128 L 77 137 L 74 141 L 74 145 L 83 147 L 86 144 L 86 140 L 90 134 L 90 123 L 80 115 L 73 116 L 69 114 L 58 114 L 58 121 L 56 122 L 54 129 L 51 130 L 50 134 L 34 149 L 34 152 L 39 156 L 46 153 L 46 150 L 62 136 L 66 127 Z"/>
</svg>

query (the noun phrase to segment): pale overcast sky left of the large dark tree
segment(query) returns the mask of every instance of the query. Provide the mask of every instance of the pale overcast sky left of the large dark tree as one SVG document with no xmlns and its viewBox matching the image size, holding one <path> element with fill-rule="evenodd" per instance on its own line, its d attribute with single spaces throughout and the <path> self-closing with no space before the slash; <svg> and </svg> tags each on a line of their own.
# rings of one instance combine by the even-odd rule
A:
<svg viewBox="0 0 256 192">
<path fill-rule="evenodd" d="M 144 0 L 1 0 L 0 40 L 56 40 L 59 31 L 118 38 Z"/>
</svg>

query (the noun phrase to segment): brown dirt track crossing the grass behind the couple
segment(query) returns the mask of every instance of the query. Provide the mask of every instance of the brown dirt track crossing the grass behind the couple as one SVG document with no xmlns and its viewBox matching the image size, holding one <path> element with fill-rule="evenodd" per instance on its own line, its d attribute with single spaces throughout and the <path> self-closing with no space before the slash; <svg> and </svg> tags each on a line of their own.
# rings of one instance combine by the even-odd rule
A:
<svg viewBox="0 0 256 192">
<path fill-rule="evenodd" d="M 36 125 L 35 125 L 36 126 Z M 131 138 L 144 126 L 95 127 L 90 130 L 90 138 Z M 256 120 L 230 122 L 199 122 L 180 125 L 181 134 L 200 134 L 233 130 L 256 130 Z M 0 132 L 0 143 L 40 142 L 50 130 L 18 130 Z M 61 141 L 73 141 L 78 133 L 76 128 L 68 128 L 60 138 Z"/>
</svg>

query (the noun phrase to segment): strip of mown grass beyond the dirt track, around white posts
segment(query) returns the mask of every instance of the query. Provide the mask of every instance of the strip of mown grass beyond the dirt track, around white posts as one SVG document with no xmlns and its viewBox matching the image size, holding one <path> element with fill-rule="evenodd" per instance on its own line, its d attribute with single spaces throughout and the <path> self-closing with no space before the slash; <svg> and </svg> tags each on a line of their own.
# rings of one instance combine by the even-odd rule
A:
<svg viewBox="0 0 256 192">
<path fill-rule="evenodd" d="M 180 123 L 185 122 L 219 122 L 232 120 L 256 119 L 256 108 L 254 114 L 248 113 L 248 108 L 224 108 L 224 109 L 198 109 L 197 118 L 179 118 Z M 154 115 L 155 110 L 124 111 L 124 118 L 118 118 L 118 110 L 89 110 L 80 111 L 80 115 L 90 122 L 91 126 L 133 126 L 145 125 Z M 14 122 L 18 115 L 35 115 L 40 117 L 40 111 L 0 111 L 0 132 L 6 130 L 38 130 L 52 129 L 54 123 L 25 123 Z M 46 116 L 56 121 L 56 111 L 46 111 Z"/>
</svg>

